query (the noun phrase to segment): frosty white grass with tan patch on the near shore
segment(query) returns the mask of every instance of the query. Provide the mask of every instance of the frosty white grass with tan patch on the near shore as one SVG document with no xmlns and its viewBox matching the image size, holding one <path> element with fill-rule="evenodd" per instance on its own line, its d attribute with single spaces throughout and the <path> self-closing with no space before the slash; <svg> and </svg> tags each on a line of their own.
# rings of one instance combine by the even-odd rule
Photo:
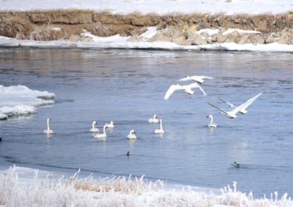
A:
<svg viewBox="0 0 293 207">
<path fill-rule="evenodd" d="M 79 179 L 79 172 L 66 179 L 35 177 L 23 185 L 17 167 L 10 167 L 0 175 L 0 206 L 293 206 L 287 194 L 278 199 L 275 192 L 270 199 L 253 199 L 233 188 L 221 189 L 220 195 L 198 193 L 192 188 L 166 189 L 160 180 L 151 182 L 143 177 L 112 177 Z"/>
</svg>

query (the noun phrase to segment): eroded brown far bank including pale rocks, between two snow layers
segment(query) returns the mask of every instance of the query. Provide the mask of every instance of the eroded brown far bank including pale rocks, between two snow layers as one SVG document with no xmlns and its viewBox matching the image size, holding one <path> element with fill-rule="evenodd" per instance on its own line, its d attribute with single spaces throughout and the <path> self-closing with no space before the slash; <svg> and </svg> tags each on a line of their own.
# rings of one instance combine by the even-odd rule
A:
<svg viewBox="0 0 293 207">
<path fill-rule="evenodd" d="M 121 34 L 140 41 L 149 26 L 158 27 L 155 37 L 147 41 L 171 41 L 180 45 L 207 43 L 293 44 L 293 12 L 285 14 L 111 14 L 92 10 L 48 10 L 0 12 L 0 35 L 16 39 L 91 41 L 80 34 L 88 30 L 102 37 Z M 217 34 L 198 34 L 204 28 L 218 29 Z M 258 33 L 231 32 L 227 28 L 255 30 Z"/>
</svg>

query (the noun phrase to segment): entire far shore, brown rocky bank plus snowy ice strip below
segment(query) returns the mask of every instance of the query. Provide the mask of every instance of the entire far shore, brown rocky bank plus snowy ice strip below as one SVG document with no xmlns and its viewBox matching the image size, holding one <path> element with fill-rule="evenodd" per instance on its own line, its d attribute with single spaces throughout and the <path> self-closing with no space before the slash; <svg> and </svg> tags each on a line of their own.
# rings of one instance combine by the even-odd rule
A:
<svg viewBox="0 0 293 207">
<path fill-rule="evenodd" d="M 293 12 L 122 15 L 93 10 L 38 10 L 0 12 L 0 25 L 0 46 L 238 50 L 227 46 L 236 43 L 240 50 L 250 50 L 245 46 L 270 48 L 267 45 L 278 43 L 283 48 L 293 47 Z"/>
</svg>

